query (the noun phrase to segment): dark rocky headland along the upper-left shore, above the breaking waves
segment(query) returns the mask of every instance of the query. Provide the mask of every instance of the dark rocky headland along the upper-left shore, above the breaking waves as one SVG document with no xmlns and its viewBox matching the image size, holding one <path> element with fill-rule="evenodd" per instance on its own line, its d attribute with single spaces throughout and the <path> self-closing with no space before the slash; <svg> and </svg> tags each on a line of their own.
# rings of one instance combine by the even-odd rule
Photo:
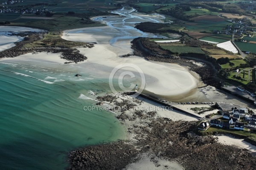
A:
<svg viewBox="0 0 256 170">
<path fill-rule="evenodd" d="M 40 53 L 40 52 L 47 52 L 47 53 L 61 53 L 62 59 L 66 59 L 72 62 L 82 62 L 87 59 L 86 56 L 80 54 L 79 50 L 76 48 L 60 48 L 60 47 L 32 47 L 32 48 L 24 48 L 23 46 L 34 41 L 38 41 L 42 39 L 41 34 L 14 34 L 18 36 L 27 36 L 24 38 L 23 41 L 15 43 L 15 46 L 4 51 L 0 51 L 0 58 L 9 58 L 9 57 L 17 57 L 27 53 Z M 94 44 L 86 44 L 83 45 L 84 48 L 93 48 Z M 65 62 L 68 64 L 70 62 Z"/>
</svg>

